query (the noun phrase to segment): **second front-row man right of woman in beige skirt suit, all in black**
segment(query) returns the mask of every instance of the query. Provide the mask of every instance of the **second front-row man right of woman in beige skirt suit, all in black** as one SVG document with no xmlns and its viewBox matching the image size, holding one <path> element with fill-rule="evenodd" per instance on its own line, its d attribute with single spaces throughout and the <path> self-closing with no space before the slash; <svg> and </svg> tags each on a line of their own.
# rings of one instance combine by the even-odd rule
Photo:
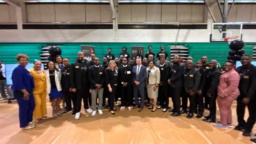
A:
<svg viewBox="0 0 256 144">
<path fill-rule="evenodd" d="M 183 73 L 184 66 L 180 64 L 180 57 L 178 55 L 173 56 L 173 64 L 170 66 L 170 76 L 168 84 L 171 85 L 173 110 L 171 116 L 180 116 L 181 107 L 181 91 L 183 88 Z"/>
</svg>

